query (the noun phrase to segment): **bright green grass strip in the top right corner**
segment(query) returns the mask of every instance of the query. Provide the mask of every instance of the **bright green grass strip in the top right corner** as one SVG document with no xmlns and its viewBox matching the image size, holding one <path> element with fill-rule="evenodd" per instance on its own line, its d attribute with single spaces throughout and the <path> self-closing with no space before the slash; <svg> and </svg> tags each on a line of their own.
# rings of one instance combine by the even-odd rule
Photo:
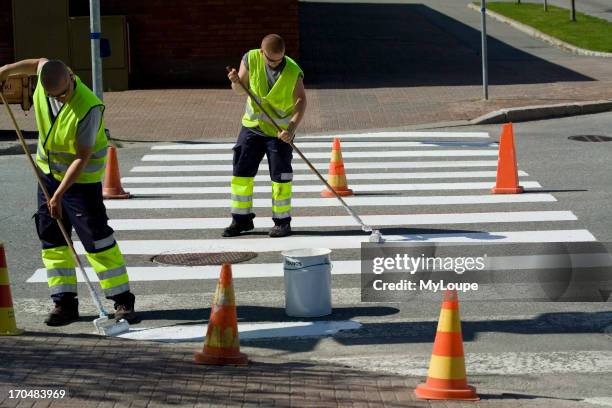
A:
<svg viewBox="0 0 612 408">
<path fill-rule="evenodd" d="M 577 21 L 572 22 L 569 9 L 549 5 L 545 12 L 543 2 L 487 2 L 487 8 L 576 47 L 612 52 L 612 23 L 606 20 L 577 11 Z"/>
</svg>

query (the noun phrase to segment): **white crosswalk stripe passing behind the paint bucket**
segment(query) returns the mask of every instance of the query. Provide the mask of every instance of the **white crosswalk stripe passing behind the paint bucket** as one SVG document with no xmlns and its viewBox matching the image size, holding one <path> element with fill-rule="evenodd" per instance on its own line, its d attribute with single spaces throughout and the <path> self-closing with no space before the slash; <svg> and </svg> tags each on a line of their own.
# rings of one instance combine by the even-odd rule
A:
<svg viewBox="0 0 612 408">
<path fill-rule="evenodd" d="M 569 256 L 569 258 L 568 258 Z M 601 268 L 612 266 L 612 255 L 609 253 L 569 254 L 565 255 L 519 255 L 487 257 L 485 269 L 491 271 L 507 270 L 541 270 L 552 268 Z M 92 282 L 98 277 L 92 268 L 85 268 L 87 276 Z M 361 273 L 361 261 L 333 261 L 332 275 L 358 275 Z M 132 282 L 153 282 L 167 280 L 198 280 L 217 279 L 218 266 L 149 266 L 129 267 L 128 274 Z M 279 278 L 284 276 L 282 263 L 266 264 L 236 264 L 232 265 L 234 279 L 246 278 Z M 78 282 L 84 282 L 77 274 Z M 47 282 L 44 268 L 36 272 L 26 281 L 27 283 Z"/>
</svg>

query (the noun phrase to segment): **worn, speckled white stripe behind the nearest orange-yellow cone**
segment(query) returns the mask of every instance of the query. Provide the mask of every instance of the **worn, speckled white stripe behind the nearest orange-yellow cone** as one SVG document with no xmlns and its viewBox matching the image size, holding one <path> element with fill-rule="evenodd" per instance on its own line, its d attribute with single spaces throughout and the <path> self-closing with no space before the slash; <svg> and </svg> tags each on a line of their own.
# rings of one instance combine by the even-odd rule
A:
<svg viewBox="0 0 612 408">
<path fill-rule="evenodd" d="M 377 353 L 363 357 L 326 357 L 325 361 L 418 377 L 427 376 L 429 366 L 429 356 L 425 354 L 390 356 Z M 612 351 L 466 353 L 465 365 L 470 375 L 612 373 Z"/>
</svg>

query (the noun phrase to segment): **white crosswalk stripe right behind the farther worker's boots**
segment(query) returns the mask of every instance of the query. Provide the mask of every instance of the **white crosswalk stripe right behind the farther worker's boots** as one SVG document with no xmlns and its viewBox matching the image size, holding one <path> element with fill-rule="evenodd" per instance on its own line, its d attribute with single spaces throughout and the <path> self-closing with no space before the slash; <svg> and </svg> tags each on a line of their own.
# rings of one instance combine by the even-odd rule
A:
<svg viewBox="0 0 612 408">
<path fill-rule="evenodd" d="M 481 224 L 511 222 L 551 222 L 575 221 L 578 218 L 571 211 L 518 211 L 461 214 L 397 214 L 397 215 L 363 215 L 363 222 L 374 226 L 414 226 L 446 224 Z M 255 228 L 271 228 L 274 224 L 268 217 L 254 220 Z M 228 225 L 225 218 L 136 218 L 112 219 L 110 226 L 115 231 L 154 231 L 154 230 L 192 230 L 220 229 Z M 321 216 L 293 217 L 291 225 L 302 227 L 351 227 L 355 226 L 353 217 Z"/>
</svg>

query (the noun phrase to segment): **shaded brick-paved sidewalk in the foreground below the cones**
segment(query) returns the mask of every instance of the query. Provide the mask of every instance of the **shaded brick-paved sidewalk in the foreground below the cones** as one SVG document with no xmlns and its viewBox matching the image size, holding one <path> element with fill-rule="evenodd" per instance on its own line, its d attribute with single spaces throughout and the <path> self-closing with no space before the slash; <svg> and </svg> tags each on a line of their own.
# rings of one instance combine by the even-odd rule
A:
<svg viewBox="0 0 612 408">
<path fill-rule="evenodd" d="M 200 346 L 201 347 L 201 346 Z M 573 407 L 580 400 L 478 387 L 477 403 L 417 401 L 423 379 L 284 358 L 246 367 L 199 366 L 193 345 L 29 332 L 0 337 L 2 407 Z M 11 399 L 9 391 L 65 390 L 64 399 Z"/>
</svg>

